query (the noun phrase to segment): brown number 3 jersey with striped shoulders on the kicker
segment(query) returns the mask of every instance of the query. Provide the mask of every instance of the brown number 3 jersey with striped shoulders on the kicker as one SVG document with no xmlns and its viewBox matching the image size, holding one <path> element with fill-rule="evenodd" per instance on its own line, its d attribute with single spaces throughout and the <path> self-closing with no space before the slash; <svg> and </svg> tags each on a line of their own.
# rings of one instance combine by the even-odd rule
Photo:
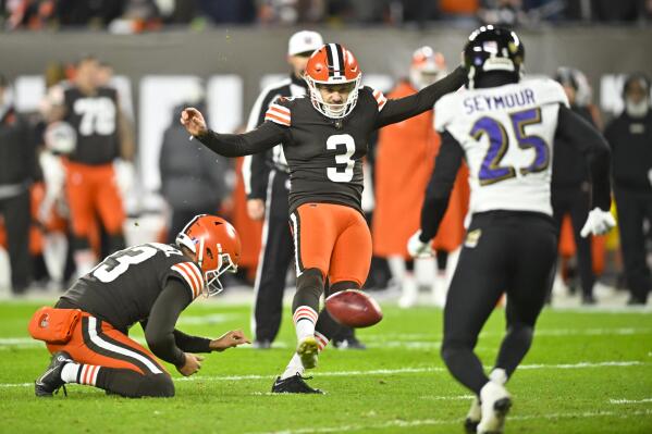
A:
<svg viewBox="0 0 652 434">
<path fill-rule="evenodd" d="M 309 97 L 282 98 L 270 106 L 266 121 L 290 127 L 283 128 L 287 139 L 282 142 L 290 166 L 291 213 L 306 202 L 339 203 L 362 212 L 362 158 L 385 103 L 380 91 L 364 87 L 343 120 L 319 113 Z"/>
</svg>

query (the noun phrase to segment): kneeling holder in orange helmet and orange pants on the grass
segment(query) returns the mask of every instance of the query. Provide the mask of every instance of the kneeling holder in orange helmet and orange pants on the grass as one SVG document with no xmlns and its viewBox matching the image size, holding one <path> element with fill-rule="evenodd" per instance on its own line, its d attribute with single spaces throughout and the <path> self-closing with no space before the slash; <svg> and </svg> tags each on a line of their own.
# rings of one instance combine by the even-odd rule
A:
<svg viewBox="0 0 652 434">
<path fill-rule="evenodd" d="M 62 309 L 79 309 L 81 319 L 66 343 L 46 339 L 53 357 L 36 380 L 36 396 L 52 396 L 65 383 L 125 397 L 173 396 L 172 379 L 156 357 L 188 376 L 204 360 L 194 352 L 223 351 L 249 343 L 241 331 L 211 340 L 174 328 L 180 313 L 195 298 L 222 290 L 219 277 L 237 270 L 239 253 L 235 228 L 223 219 L 202 214 L 179 234 L 176 246 L 148 243 L 107 257 L 50 310 L 49 321 Z M 151 352 L 127 336 L 136 322 L 143 325 Z"/>
</svg>

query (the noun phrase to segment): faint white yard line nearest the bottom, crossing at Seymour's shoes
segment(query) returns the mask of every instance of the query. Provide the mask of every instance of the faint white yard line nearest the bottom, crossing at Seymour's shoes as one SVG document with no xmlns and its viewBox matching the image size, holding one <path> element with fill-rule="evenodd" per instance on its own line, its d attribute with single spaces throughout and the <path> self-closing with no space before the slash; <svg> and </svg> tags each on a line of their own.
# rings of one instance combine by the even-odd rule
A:
<svg viewBox="0 0 652 434">
<path fill-rule="evenodd" d="M 641 410 L 623 413 L 622 411 L 585 411 L 585 412 L 567 412 L 554 414 L 530 414 L 530 416 L 513 416 L 508 417 L 508 421 L 529 421 L 529 420 L 558 420 L 558 419 L 588 419 L 588 418 L 618 418 L 628 419 L 638 416 L 650 416 L 652 410 Z M 297 430 L 268 431 L 256 434 L 312 434 L 312 433 L 343 433 L 346 431 L 360 430 L 384 430 L 390 427 L 414 427 L 429 425 L 457 425 L 462 424 L 459 419 L 417 419 L 417 420 L 393 420 L 382 423 L 349 424 L 340 426 L 324 427 L 304 427 Z M 253 434 L 253 433 L 249 433 Z"/>
</svg>

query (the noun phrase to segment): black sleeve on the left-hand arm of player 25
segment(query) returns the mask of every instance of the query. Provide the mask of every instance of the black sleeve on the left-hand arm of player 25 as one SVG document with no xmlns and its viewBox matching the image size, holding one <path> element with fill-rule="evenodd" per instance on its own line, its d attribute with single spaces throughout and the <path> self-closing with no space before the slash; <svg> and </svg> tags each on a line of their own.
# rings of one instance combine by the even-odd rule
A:
<svg viewBox="0 0 652 434">
<path fill-rule="evenodd" d="M 434 238 L 444 219 L 451 191 L 455 184 L 457 171 L 462 165 L 464 150 L 451 133 L 442 134 L 442 146 L 436 156 L 434 171 L 426 188 L 426 199 L 421 208 L 420 240 L 427 243 Z"/>
</svg>

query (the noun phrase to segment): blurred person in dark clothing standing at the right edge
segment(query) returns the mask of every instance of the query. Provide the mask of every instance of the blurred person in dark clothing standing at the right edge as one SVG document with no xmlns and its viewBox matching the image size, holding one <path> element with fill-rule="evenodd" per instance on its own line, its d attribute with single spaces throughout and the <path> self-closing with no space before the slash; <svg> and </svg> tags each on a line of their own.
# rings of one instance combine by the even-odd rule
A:
<svg viewBox="0 0 652 434">
<path fill-rule="evenodd" d="M 650 79 L 631 74 L 623 89 L 625 110 L 608 124 L 612 176 L 618 211 L 620 248 L 630 290 L 628 305 L 644 305 L 650 293 L 643 221 L 652 224 L 652 113 Z"/>
</svg>

